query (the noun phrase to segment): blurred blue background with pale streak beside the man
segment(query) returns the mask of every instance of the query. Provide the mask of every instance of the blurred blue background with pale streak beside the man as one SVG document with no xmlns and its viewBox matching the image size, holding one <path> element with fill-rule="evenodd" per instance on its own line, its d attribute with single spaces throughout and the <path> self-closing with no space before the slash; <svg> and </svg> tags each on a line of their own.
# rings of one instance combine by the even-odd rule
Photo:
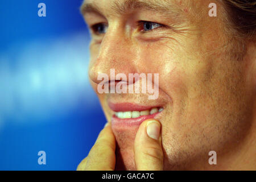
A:
<svg viewBox="0 0 256 182">
<path fill-rule="evenodd" d="M 106 122 L 89 85 L 81 3 L 0 2 L 1 170 L 75 170 Z"/>
</svg>

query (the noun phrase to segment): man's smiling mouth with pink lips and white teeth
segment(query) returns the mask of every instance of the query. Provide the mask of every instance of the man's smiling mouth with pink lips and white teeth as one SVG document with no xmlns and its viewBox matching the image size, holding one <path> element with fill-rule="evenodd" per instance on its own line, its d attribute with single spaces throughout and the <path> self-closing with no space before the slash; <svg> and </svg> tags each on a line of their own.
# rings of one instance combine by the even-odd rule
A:
<svg viewBox="0 0 256 182">
<path fill-rule="evenodd" d="M 114 111 L 112 125 L 114 126 L 137 126 L 150 118 L 156 118 L 164 110 L 162 106 L 142 106 L 131 103 L 109 103 Z"/>
</svg>

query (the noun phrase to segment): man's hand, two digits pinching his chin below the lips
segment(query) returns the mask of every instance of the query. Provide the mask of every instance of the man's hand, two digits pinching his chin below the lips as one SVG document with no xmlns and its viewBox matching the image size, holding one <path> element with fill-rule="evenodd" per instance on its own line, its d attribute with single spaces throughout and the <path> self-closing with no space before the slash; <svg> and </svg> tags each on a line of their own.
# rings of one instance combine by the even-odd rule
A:
<svg viewBox="0 0 256 182">
<path fill-rule="evenodd" d="M 163 170 L 161 125 L 155 119 L 141 123 L 134 141 L 134 160 L 138 171 Z M 115 137 L 108 123 L 77 167 L 78 171 L 113 171 L 115 169 Z"/>
</svg>

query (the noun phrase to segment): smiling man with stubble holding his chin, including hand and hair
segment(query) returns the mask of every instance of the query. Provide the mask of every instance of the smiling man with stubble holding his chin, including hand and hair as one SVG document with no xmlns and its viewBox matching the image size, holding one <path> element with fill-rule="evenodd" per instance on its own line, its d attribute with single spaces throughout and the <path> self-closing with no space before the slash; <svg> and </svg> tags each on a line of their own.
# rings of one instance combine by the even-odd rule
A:
<svg viewBox="0 0 256 182">
<path fill-rule="evenodd" d="M 217 16 L 209 16 L 210 3 Z M 86 0 L 89 77 L 109 124 L 78 169 L 255 170 L 255 4 Z M 110 69 L 127 78 L 158 73 L 158 98 L 98 93 L 98 75 Z M 210 151 L 217 164 L 209 164 Z"/>
</svg>

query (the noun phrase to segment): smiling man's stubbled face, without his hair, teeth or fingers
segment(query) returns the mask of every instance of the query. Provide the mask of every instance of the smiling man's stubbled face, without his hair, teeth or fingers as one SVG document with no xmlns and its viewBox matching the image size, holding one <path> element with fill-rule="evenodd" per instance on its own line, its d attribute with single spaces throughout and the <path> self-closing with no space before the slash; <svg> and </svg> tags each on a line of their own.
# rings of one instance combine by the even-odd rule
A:
<svg viewBox="0 0 256 182">
<path fill-rule="evenodd" d="M 212 2 L 216 17 L 208 15 Z M 141 121 L 113 119 L 114 111 L 163 108 L 154 118 L 162 124 L 164 169 L 207 166 L 211 150 L 228 155 L 226 149 L 239 142 L 250 125 L 245 122 L 251 93 L 246 64 L 234 60 L 222 5 L 205 0 L 85 4 L 92 33 L 89 76 L 108 122 L 114 121 L 117 168 L 135 169 L 133 143 Z M 158 73 L 159 97 L 98 93 L 98 74 L 110 75 L 110 69 L 127 78 L 129 73 Z"/>
</svg>

